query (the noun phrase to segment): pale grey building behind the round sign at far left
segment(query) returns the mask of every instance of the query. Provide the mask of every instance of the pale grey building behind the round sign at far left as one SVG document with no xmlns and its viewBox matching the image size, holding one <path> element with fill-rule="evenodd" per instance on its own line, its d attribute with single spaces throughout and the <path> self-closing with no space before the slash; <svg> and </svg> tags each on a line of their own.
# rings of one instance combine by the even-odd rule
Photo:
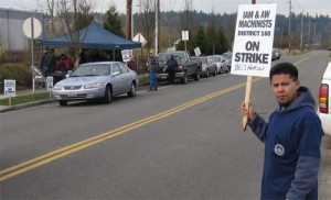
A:
<svg viewBox="0 0 331 200">
<path fill-rule="evenodd" d="M 36 18 L 41 22 L 43 31 L 39 38 L 43 38 L 43 35 L 45 35 L 44 24 L 49 21 L 47 15 L 39 12 L 0 8 L 0 46 L 2 46 L 3 52 L 29 48 L 29 38 L 23 32 L 23 23 L 28 18 Z"/>
</svg>

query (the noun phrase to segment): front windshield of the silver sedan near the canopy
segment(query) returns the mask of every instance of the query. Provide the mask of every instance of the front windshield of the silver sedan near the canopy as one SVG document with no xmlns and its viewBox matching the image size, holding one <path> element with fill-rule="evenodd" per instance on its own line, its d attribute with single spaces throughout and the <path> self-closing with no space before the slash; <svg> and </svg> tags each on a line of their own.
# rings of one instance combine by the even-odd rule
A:
<svg viewBox="0 0 331 200">
<path fill-rule="evenodd" d="M 109 65 L 98 64 L 98 65 L 81 65 L 71 77 L 85 77 L 85 76 L 109 76 Z"/>
</svg>

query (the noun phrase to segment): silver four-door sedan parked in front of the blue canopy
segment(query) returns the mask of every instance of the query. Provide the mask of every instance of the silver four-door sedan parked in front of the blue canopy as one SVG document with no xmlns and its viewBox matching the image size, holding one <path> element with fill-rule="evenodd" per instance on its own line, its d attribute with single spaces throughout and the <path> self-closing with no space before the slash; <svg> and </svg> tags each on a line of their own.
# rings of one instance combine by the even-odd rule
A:
<svg viewBox="0 0 331 200">
<path fill-rule="evenodd" d="M 67 101 L 103 99 L 109 103 L 117 95 L 135 97 L 139 80 L 137 73 L 120 62 L 98 62 L 81 65 L 70 77 L 53 87 L 60 105 Z"/>
</svg>

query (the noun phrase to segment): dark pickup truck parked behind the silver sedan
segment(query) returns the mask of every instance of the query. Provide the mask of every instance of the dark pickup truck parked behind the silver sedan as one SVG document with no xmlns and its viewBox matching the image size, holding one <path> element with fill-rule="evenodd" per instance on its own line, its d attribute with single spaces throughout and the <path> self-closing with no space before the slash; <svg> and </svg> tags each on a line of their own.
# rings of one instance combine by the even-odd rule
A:
<svg viewBox="0 0 331 200">
<path fill-rule="evenodd" d="M 174 51 L 159 54 L 159 68 L 157 71 L 158 80 L 168 80 L 168 73 L 164 70 L 164 67 L 167 68 L 166 65 L 171 55 L 174 56 L 179 65 L 175 71 L 175 79 L 179 79 L 182 84 L 186 84 L 189 77 L 193 77 L 194 80 L 200 80 L 202 70 L 201 60 L 191 58 L 186 51 Z"/>
</svg>

